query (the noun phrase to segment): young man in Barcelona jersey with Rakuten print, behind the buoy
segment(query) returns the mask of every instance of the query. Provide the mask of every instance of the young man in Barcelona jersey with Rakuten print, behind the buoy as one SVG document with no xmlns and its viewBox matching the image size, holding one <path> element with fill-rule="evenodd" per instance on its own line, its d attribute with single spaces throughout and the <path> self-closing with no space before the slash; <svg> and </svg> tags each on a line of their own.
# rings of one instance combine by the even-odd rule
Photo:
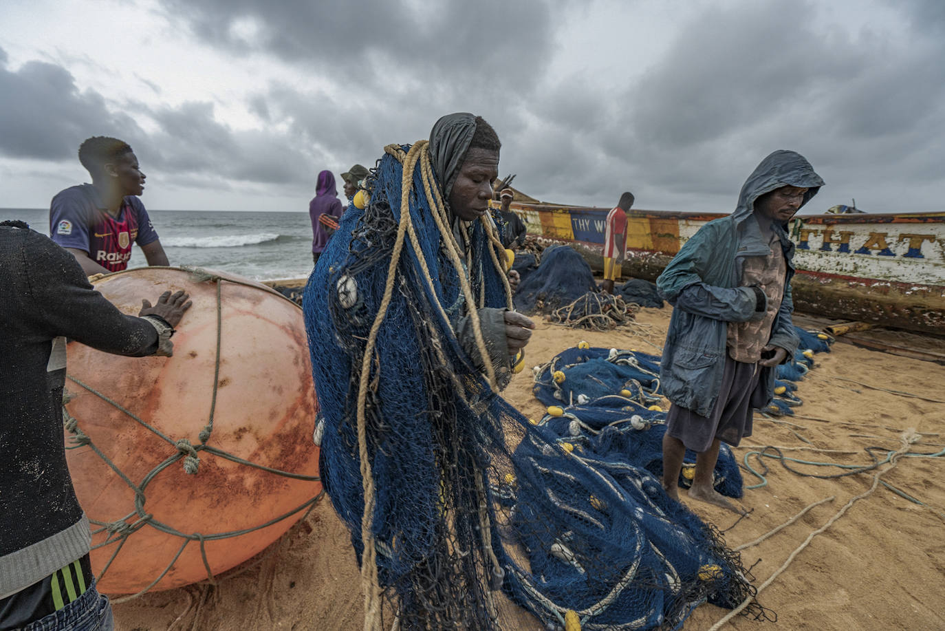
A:
<svg viewBox="0 0 945 631">
<path fill-rule="evenodd" d="M 129 145 L 94 136 L 78 148 L 78 160 L 92 184 L 70 186 L 53 198 L 53 241 L 72 253 L 89 276 L 127 268 L 132 242 L 141 247 L 148 265 L 168 265 L 145 204 L 138 199 L 145 191 L 145 174 Z"/>
</svg>

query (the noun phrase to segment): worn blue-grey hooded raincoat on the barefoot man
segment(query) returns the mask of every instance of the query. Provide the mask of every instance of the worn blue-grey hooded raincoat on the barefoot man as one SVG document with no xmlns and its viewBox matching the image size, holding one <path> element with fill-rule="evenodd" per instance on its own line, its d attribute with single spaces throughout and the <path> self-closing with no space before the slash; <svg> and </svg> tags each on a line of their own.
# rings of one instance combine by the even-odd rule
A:
<svg viewBox="0 0 945 631">
<path fill-rule="evenodd" d="M 808 189 L 802 206 L 823 184 L 799 153 L 775 151 L 748 176 L 735 211 L 702 226 L 657 279 L 660 293 L 675 307 L 660 368 L 663 392 L 675 405 L 709 416 L 722 385 L 728 323 L 764 316 L 764 311 L 755 310 L 755 290 L 740 287 L 745 257 L 766 256 L 769 252 L 758 222 L 747 220 L 752 217 L 755 201 L 765 193 L 791 185 Z M 784 298 L 768 343 L 785 349 L 790 358 L 799 343 L 791 322 L 794 243 L 787 236 L 786 224 L 775 222 L 772 229 L 781 239 L 787 274 Z M 774 394 L 775 373 L 773 368 L 762 369 L 761 385 L 767 401 Z"/>
</svg>

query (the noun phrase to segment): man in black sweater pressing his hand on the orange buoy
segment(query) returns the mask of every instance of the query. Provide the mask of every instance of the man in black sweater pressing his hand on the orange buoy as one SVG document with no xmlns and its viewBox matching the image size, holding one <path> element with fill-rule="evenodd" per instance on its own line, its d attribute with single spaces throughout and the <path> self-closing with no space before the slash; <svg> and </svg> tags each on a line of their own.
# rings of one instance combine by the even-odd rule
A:
<svg viewBox="0 0 945 631">
<path fill-rule="evenodd" d="M 165 291 L 153 307 L 142 301 L 141 317 L 123 315 L 72 254 L 22 221 L 0 222 L 0 270 L 0 631 L 41 620 L 43 629 L 112 629 L 65 460 L 65 342 L 170 356 L 191 303 Z"/>
</svg>

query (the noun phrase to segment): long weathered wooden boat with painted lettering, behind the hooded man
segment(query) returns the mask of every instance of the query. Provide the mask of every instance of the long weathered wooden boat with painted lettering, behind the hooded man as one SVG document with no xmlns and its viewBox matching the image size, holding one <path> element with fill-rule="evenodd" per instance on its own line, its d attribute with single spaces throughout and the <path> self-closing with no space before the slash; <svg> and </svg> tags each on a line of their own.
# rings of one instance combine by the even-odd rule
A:
<svg viewBox="0 0 945 631">
<path fill-rule="evenodd" d="M 603 269 L 609 208 L 512 202 L 511 209 L 542 243 L 570 245 Z M 719 217 L 631 210 L 625 275 L 656 280 L 682 244 Z M 789 227 L 798 244 L 799 311 L 945 335 L 945 212 L 802 215 Z"/>
</svg>

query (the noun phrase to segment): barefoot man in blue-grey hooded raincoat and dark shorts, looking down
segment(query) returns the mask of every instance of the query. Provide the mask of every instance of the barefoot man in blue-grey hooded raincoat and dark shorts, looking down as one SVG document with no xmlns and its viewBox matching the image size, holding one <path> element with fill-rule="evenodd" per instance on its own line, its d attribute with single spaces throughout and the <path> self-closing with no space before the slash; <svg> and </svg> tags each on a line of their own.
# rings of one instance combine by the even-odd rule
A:
<svg viewBox="0 0 945 631">
<path fill-rule="evenodd" d="M 729 216 L 704 225 L 657 279 L 674 311 L 661 362 L 666 415 L 662 484 L 679 497 L 687 448 L 696 451 L 689 496 L 739 511 L 713 488 L 721 442 L 751 435 L 751 416 L 774 394 L 779 364 L 798 347 L 791 322 L 794 243 L 787 221 L 823 180 L 799 153 L 779 150 L 742 186 Z"/>
</svg>

